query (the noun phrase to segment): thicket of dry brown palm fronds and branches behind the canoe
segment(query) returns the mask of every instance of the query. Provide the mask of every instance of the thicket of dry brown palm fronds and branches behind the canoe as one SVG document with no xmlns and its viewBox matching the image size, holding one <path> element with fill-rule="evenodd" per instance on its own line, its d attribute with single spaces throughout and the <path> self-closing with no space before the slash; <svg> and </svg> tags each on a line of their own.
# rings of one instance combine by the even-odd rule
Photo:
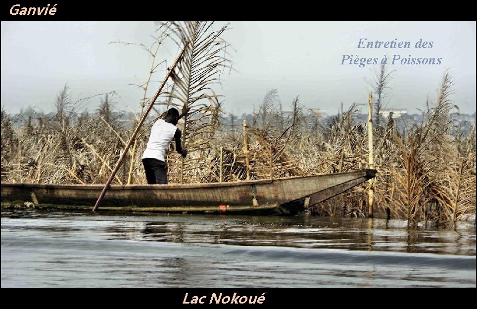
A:
<svg viewBox="0 0 477 309">
<path fill-rule="evenodd" d="M 186 61 L 175 71 L 161 103 L 191 107 L 183 125 L 189 154 L 183 160 L 171 148 L 167 156 L 170 183 L 240 181 L 247 178 L 247 172 L 251 179 L 264 179 L 367 167 L 367 129 L 355 120 L 356 104 L 322 125 L 319 115 L 307 113 L 297 97 L 291 103 L 290 119 L 285 119 L 277 90 L 266 94 L 249 119 L 245 153 L 241 124 L 221 123 L 219 96 L 209 87 L 228 65 L 225 56 L 219 56 L 227 46 L 220 40 L 225 28 L 212 31 L 208 23 L 165 23 L 163 27 L 169 37 L 177 35 L 177 42 L 193 38 Z M 149 51 L 153 52 L 151 67 L 156 69 L 157 49 Z M 385 79 L 378 79 L 383 91 L 390 76 L 385 71 L 380 76 Z M 141 85 L 145 88 L 142 106 L 148 100 L 145 93 L 150 79 L 151 75 Z M 391 217 L 409 220 L 459 220 L 475 214 L 476 128 L 456 133 L 451 121 L 456 108 L 449 101 L 452 87 L 446 72 L 436 101 L 427 104 L 420 125 L 398 130 L 390 116 L 374 128 L 374 162 L 379 170 L 375 216 L 389 211 Z M 104 95 L 93 113 L 80 113 L 67 87 L 55 103 L 53 117 L 36 111 L 15 119 L 1 110 L 2 182 L 106 182 L 137 119 L 120 121 L 111 95 Z M 151 124 L 144 126 L 113 183 L 146 183 L 141 155 Z M 360 185 L 314 206 L 311 212 L 366 216 L 366 203 L 366 186 Z"/>
</svg>

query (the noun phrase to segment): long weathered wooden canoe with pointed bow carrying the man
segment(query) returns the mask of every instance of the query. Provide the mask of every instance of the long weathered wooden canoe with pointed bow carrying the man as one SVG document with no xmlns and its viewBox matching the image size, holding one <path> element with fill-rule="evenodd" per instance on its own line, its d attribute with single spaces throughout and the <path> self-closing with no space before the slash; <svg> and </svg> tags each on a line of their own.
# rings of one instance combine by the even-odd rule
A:
<svg viewBox="0 0 477 309">
<path fill-rule="evenodd" d="M 375 177 L 376 170 L 238 182 L 111 185 L 99 210 L 295 214 Z M 2 208 L 92 209 L 103 185 L 1 183 Z M 298 206 L 297 206 L 298 205 Z"/>
</svg>

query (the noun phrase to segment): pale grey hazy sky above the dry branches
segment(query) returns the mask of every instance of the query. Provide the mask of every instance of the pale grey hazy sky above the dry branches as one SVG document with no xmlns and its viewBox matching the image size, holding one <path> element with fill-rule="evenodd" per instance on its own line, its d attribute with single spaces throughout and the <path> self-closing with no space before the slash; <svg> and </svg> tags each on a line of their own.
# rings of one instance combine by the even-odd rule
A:
<svg viewBox="0 0 477 309">
<path fill-rule="evenodd" d="M 222 23 L 218 23 L 222 24 Z M 142 92 L 128 85 L 145 79 L 150 57 L 140 48 L 112 41 L 152 42 L 152 21 L 1 21 L 1 105 L 8 112 L 37 106 L 53 111 L 57 92 L 67 83 L 73 99 L 116 91 L 117 106 L 137 107 Z M 358 49 L 369 41 L 409 41 L 409 49 Z M 389 84 L 388 107 L 416 112 L 426 99 L 435 99 L 445 69 L 455 80 L 453 99 L 463 113 L 476 110 L 476 22 L 338 22 L 233 21 L 224 34 L 233 47 L 230 57 L 237 71 L 223 76 L 219 93 L 224 107 L 236 114 L 250 112 L 268 90 L 277 88 L 284 110 L 293 98 L 335 113 L 343 102 L 366 103 L 367 83 L 379 65 L 341 64 L 343 55 L 374 58 L 384 54 L 402 58 L 441 58 L 441 64 L 407 65 L 396 62 Z M 432 48 L 416 49 L 420 39 Z M 171 59 L 177 49 L 161 51 Z M 401 60 L 399 59 L 399 61 Z M 157 79 L 160 76 L 158 76 Z M 155 91 L 159 83 L 152 85 Z M 87 107 L 95 109 L 98 98 Z"/>
</svg>

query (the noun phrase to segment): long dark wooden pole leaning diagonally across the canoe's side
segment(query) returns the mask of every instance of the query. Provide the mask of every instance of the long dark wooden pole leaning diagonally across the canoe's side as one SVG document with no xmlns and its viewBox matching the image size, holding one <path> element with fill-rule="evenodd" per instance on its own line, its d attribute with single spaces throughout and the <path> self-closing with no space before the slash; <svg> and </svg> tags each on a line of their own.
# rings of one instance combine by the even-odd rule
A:
<svg viewBox="0 0 477 309">
<path fill-rule="evenodd" d="M 99 195 L 99 197 L 98 197 L 98 199 L 97 199 L 97 201 L 96 201 L 95 206 L 93 207 L 93 211 L 96 211 L 96 209 L 97 209 L 97 207 L 99 206 L 99 204 L 101 204 L 101 201 L 102 201 L 102 199 L 104 198 L 104 195 L 106 194 L 106 190 L 109 188 L 109 186 L 111 185 L 111 182 L 113 181 L 114 176 L 115 176 L 116 173 L 118 172 L 119 166 L 121 165 L 121 163 L 122 163 L 123 160 L 124 160 L 124 157 L 125 157 L 126 154 L 128 153 L 128 150 L 129 150 L 129 148 L 131 147 L 131 144 L 133 144 L 133 142 L 136 140 L 136 136 L 138 135 L 139 130 L 141 129 L 141 126 L 143 125 L 144 121 L 146 120 L 146 117 L 147 117 L 147 115 L 149 114 L 149 111 L 152 109 L 152 106 L 154 106 L 154 103 L 156 102 L 157 97 L 159 97 L 159 94 L 161 93 L 162 88 L 164 88 L 164 86 L 166 85 L 166 82 L 167 82 L 167 80 L 169 79 L 169 77 L 171 76 L 172 72 L 174 72 L 174 68 L 176 67 L 176 65 L 179 63 L 179 61 L 181 61 L 182 56 L 184 55 L 184 51 L 186 51 L 186 48 L 187 48 L 187 45 L 184 46 L 184 48 L 182 49 L 181 53 L 177 56 L 176 60 L 174 60 L 174 63 L 168 68 L 166 77 L 165 77 L 164 80 L 162 81 L 161 86 L 160 86 L 159 89 L 157 90 L 156 94 L 154 95 L 154 97 L 153 97 L 152 100 L 151 100 L 151 103 L 149 104 L 149 106 L 147 107 L 145 113 L 143 114 L 143 117 L 142 117 L 141 120 L 139 121 L 138 126 L 136 127 L 136 130 L 134 130 L 133 135 L 132 135 L 131 138 L 129 139 L 129 142 L 128 142 L 128 144 L 126 145 L 126 147 L 124 148 L 123 154 L 121 154 L 121 156 L 119 157 L 118 161 L 116 162 L 116 165 L 114 166 L 114 169 L 113 169 L 113 171 L 112 171 L 112 173 L 111 173 L 111 176 L 109 176 L 108 181 L 107 181 L 106 184 L 104 185 L 104 188 L 103 188 L 103 190 L 101 191 L 101 194 Z"/>
</svg>

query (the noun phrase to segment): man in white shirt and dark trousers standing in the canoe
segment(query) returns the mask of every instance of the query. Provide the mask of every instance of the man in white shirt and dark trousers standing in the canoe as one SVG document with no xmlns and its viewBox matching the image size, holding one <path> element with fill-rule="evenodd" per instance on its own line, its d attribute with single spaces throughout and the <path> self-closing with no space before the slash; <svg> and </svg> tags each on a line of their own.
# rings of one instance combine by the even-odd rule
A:
<svg viewBox="0 0 477 309">
<path fill-rule="evenodd" d="M 170 108 L 164 119 L 158 119 L 152 126 L 143 154 L 144 171 L 149 185 L 167 184 L 166 150 L 173 139 L 176 140 L 176 151 L 186 157 L 187 151 L 181 145 L 181 130 L 176 125 L 189 109 L 184 106 L 179 115 L 176 108 Z"/>
</svg>

